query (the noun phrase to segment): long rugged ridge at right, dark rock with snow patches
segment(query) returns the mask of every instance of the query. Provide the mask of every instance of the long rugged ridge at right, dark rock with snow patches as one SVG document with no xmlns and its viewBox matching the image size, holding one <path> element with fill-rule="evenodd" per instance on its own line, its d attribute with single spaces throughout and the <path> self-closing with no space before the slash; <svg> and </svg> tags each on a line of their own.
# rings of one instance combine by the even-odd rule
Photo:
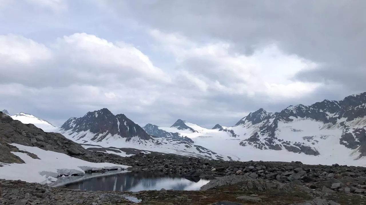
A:
<svg viewBox="0 0 366 205">
<path fill-rule="evenodd" d="M 308 155 L 352 153 L 366 156 L 366 93 L 341 101 L 324 100 L 313 105 L 289 106 L 281 112 L 259 109 L 235 126 L 251 129 L 242 146 L 282 150 Z M 257 129 L 253 129 L 253 128 Z"/>
</svg>

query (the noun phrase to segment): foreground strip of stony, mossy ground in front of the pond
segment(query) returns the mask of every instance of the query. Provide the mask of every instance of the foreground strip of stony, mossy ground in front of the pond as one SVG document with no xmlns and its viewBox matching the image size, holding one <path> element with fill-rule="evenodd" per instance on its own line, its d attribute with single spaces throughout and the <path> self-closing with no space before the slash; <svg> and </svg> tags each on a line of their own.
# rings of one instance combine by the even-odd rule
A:
<svg viewBox="0 0 366 205">
<path fill-rule="evenodd" d="M 269 163 L 269 162 L 267 162 Z M 141 205 L 344 205 L 365 204 L 362 193 L 347 192 L 350 178 L 335 178 L 314 183 L 281 183 L 277 180 L 255 179 L 248 175 L 217 177 L 200 191 L 151 190 L 140 192 L 89 192 L 49 187 L 38 183 L 0 179 L 0 204 L 141 204 Z M 358 184 L 363 178 L 358 179 Z M 364 181 L 363 181 L 364 182 Z M 328 185 L 329 184 L 329 185 Z M 331 184 L 331 185 L 330 185 Z M 335 185 L 336 184 L 336 185 Z M 328 188 L 330 186 L 330 188 Z M 333 187 L 334 186 L 334 187 Z M 361 185 L 362 186 L 362 185 Z M 325 187 L 325 188 L 324 188 Z"/>
</svg>

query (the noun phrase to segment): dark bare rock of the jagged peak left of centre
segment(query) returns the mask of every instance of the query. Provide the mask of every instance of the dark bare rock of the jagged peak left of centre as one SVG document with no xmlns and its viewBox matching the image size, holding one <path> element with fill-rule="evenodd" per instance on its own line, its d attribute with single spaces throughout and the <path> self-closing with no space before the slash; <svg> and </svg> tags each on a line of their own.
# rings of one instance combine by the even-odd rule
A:
<svg viewBox="0 0 366 205">
<path fill-rule="evenodd" d="M 91 140 L 95 142 L 102 141 L 110 135 L 119 135 L 122 138 L 131 139 L 138 136 L 140 139 L 149 140 L 147 134 L 138 124 L 128 119 L 123 114 L 113 115 L 107 108 L 98 111 L 88 112 L 83 117 L 71 117 L 61 128 L 64 131 L 71 130 L 71 133 L 90 131 L 95 134 Z"/>
</svg>

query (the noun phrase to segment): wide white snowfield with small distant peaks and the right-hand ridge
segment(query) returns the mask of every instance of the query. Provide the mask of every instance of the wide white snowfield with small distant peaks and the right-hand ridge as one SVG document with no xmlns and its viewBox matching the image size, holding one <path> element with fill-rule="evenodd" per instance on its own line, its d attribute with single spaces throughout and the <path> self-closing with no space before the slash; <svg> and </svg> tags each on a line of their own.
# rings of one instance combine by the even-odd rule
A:
<svg viewBox="0 0 366 205">
<path fill-rule="evenodd" d="M 232 127 L 217 124 L 206 129 L 177 122 L 154 132 L 178 132 L 195 144 L 238 160 L 366 165 L 366 92 L 341 101 L 291 105 L 275 113 L 261 108 Z"/>
</svg>

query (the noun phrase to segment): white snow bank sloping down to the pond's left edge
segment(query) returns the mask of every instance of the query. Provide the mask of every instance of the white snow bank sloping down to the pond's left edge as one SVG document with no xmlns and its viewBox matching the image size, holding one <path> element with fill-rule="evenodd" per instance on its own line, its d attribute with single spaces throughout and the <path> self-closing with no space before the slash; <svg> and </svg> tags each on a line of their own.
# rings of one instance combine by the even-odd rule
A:
<svg viewBox="0 0 366 205">
<path fill-rule="evenodd" d="M 70 174 L 85 174 L 85 171 L 126 169 L 129 166 L 112 163 L 93 163 L 77 159 L 59 152 L 46 151 L 38 147 L 23 146 L 12 143 L 19 150 L 36 154 L 40 159 L 33 159 L 26 153 L 12 152 L 25 163 L 1 163 L 0 178 L 8 180 L 22 180 L 36 183 L 52 183 L 56 177 Z"/>
</svg>

